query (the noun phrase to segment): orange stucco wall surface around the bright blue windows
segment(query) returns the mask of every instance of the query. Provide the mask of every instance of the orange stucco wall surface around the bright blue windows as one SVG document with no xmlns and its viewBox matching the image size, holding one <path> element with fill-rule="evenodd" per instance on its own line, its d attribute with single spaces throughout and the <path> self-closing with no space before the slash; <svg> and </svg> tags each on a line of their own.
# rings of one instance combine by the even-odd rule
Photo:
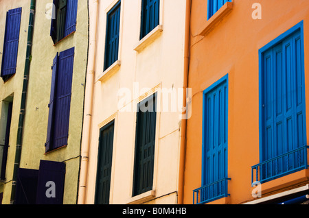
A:
<svg viewBox="0 0 309 218">
<path fill-rule="evenodd" d="M 253 19 L 253 3 L 262 6 L 262 19 Z M 216 15 L 216 14 L 215 14 Z M 218 14 L 217 14 L 218 15 Z M 184 204 L 192 204 L 192 190 L 201 187 L 203 90 L 229 74 L 227 199 L 218 204 L 241 204 L 253 199 L 251 166 L 259 162 L 259 57 L 258 50 L 304 21 L 306 114 L 309 102 L 309 1 L 233 0 L 229 14 L 205 36 L 207 0 L 192 0 L 189 87 L 192 117 L 187 121 Z M 306 182 L 306 171 L 262 184 L 262 195 Z M 308 182 L 308 180 L 307 180 Z"/>
</svg>

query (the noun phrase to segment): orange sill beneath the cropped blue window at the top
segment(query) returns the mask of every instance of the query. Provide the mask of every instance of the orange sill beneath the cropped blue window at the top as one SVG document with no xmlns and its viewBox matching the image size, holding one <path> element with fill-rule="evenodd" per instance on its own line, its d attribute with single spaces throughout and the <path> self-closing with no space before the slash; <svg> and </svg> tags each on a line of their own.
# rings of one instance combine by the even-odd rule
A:
<svg viewBox="0 0 309 218">
<path fill-rule="evenodd" d="M 206 21 L 206 23 L 203 25 L 203 28 L 198 32 L 198 35 L 200 36 L 206 36 L 209 32 L 211 32 L 211 29 L 214 29 L 216 25 L 225 17 L 229 12 L 231 12 L 231 9 L 233 8 L 233 2 L 227 2 L 225 3 L 211 18 Z"/>
</svg>

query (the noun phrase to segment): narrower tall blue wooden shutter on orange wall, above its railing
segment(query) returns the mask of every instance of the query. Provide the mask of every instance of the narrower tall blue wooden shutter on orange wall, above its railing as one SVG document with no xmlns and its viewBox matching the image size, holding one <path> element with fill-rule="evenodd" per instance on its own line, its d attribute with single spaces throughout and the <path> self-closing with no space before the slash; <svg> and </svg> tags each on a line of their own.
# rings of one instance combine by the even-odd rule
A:
<svg viewBox="0 0 309 218">
<path fill-rule="evenodd" d="M 205 93 L 202 185 L 227 178 L 227 80 Z"/>
</svg>

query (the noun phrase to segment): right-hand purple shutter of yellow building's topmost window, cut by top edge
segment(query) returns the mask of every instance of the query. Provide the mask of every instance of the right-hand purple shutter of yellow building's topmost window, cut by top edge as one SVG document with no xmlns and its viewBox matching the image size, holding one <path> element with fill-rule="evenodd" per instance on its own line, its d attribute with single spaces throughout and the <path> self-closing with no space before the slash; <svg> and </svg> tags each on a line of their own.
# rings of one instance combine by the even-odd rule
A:
<svg viewBox="0 0 309 218">
<path fill-rule="evenodd" d="M 65 21 L 65 36 L 76 31 L 76 16 L 78 9 L 78 0 L 67 1 L 67 19 Z"/>
</svg>

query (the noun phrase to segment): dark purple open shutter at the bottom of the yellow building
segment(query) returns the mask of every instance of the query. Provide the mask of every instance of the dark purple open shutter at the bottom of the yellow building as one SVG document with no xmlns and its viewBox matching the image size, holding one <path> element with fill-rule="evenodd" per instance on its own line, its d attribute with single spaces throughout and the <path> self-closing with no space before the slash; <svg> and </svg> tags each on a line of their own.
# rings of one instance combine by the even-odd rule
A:
<svg viewBox="0 0 309 218">
<path fill-rule="evenodd" d="M 40 161 L 36 204 L 62 204 L 65 189 L 65 163 Z"/>
</svg>

